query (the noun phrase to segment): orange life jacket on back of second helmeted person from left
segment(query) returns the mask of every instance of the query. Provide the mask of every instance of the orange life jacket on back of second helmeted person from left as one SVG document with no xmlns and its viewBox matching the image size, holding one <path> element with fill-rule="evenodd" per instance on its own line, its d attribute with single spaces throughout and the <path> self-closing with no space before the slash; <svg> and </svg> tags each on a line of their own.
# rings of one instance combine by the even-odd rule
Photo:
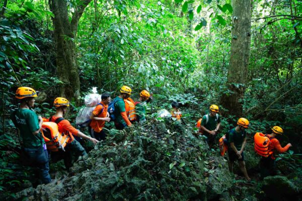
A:
<svg viewBox="0 0 302 201">
<path fill-rule="evenodd" d="M 69 137 L 58 131 L 58 125 L 54 122 L 43 122 L 42 136 L 49 151 L 64 150 Z"/>
</svg>

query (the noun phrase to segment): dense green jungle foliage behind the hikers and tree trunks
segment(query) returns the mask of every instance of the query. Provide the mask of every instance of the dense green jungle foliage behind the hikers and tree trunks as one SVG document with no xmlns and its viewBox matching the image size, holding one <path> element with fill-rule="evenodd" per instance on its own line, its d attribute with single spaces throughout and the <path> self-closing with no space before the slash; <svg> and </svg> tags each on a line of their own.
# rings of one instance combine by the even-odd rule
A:
<svg viewBox="0 0 302 201">
<path fill-rule="evenodd" d="M 80 2 L 68 1 L 69 16 Z M 280 141 L 291 142 L 294 151 L 280 155 L 280 162 L 292 171 L 301 164 L 297 153 L 302 126 L 302 2 L 252 2 L 243 112 L 251 120 L 251 133 L 268 132 L 275 124 L 284 129 Z M 61 82 L 56 74 L 54 16 L 47 1 L 0 1 L 0 6 L 0 191 L 10 194 L 26 187 L 32 174 L 18 163 L 18 136 L 9 120 L 17 107 L 14 93 L 21 85 L 43 92 L 36 111 L 49 117 Z M 110 91 L 112 97 L 124 84 L 135 91 L 135 98 L 147 89 L 155 93 L 152 112 L 168 109 L 171 100 L 177 100 L 183 105 L 184 121 L 193 127 L 210 104 L 219 105 L 223 93 L 232 93 L 225 86 L 236 37 L 231 35 L 232 12 L 230 0 L 92 1 L 72 39 L 82 97 L 93 86 L 100 93 Z M 74 106 L 71 120 L 80 107 Z M 236 117 L 220 111 L 222 135 Z"/>
</svg>

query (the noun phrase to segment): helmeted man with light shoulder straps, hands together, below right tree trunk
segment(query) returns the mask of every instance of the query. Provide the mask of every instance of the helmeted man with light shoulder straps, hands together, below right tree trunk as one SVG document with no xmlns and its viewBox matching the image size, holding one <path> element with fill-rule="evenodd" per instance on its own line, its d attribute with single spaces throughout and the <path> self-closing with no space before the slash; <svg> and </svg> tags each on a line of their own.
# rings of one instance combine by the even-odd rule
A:
<svg viewBox="0 0 302 201">
<path fill-rule="evenodd" d="M 220 128 L 221 122 L 218 115 L 218 106 L 211 105 L 209 111 L 209 114 L 204 115 L 201 119 L 200 130 L 202 135 L 206 137 L 209 149 L 211 149 L 215 142 L 217 131 Z"/>
</svg>

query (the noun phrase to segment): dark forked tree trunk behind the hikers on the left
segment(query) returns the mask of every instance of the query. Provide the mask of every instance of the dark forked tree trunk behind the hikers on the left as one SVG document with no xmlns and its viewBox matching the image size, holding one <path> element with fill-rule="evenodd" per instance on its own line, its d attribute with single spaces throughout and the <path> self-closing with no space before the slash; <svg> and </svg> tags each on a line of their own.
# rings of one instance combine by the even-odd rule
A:
<svg viewBox="0 0 302 201">
<path fill-rule="evenodd" d="M 78 100 L 80 95 L 80 77 L 75 49 L 79 20 L 92 0 L 83 0 L 75 7 L 71 22 L 68 19 L 66 0 L 49 0 L 49 7 L 54 14 L 54 40 L 56 46 L 57 73 L 60 81 L 60 95 L 67 99 Z"/>
</svg>

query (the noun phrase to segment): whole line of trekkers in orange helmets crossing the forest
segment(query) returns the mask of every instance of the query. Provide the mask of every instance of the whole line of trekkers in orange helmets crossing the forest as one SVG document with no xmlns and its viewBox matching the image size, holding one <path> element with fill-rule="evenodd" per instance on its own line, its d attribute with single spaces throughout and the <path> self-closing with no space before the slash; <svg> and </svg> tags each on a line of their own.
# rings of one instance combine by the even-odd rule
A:
<svg viewBox="0 0 302 201">
<path fill-rule="evenodd" d="M 51 182 L 48 173 L 48 153 L 50 153 L 51 158 L 63 158 L 65 167 L 69 171 L 72 166 L 72 155 L 75 155 L 76 159 L 79 156 L 87 155 L 86 150 L 75 138 L 87 139 L 97 144 L 101 140 L 106 140 L 107 135 L 103 130 L 106 122 L 114 121 L 115 128 L 122 130 L 131 127 L 135 121 L 140 124 L 146 121 L 146 104 L 152 100 L 153 94 L 147 90 L 142 90 L 139 99 L 134 102 L 130 98 L 131 92 L 130 87 L 122 86 L 120 94 L 112 102 L 110 93 L 102 94 L 101 102 L 97 104 L 90 116 L 91 121 L 88 126 L 92 136 L 90 137 L 75 129 L 68 120 L 63 118 L 69 107 L 66 98 L 55 98 L 53 106 L 56 113 L 49 118 L 42 118 L 32 110 L 37 92 L 30 87 L 19 87 L 15 97 L 20 100 L 20 105 L 17 110 L 13 111 L 11 119 L 19 129 L 23 140 L 23 160 L 26 161 L 27 165 L 38 168 L 39 177 L 45 184 Z M 210 149 L 215 144 L 217 132 L 221 125 L 218 112 L 218 106 L 211 105 L 209 113 L 197 122 L 199 133 L 206 139 Z M 177 102 L 172 102 L 171 116 L 181 121 L 182 114 Z M 224 155 L 224 151 L 228 151 L 230 171 L 233 172 L 233 164 L 238 160 L 240 169 L 247 180 L 250 180 L 250 177 L 245 167 L 244 148 L 246 146 L 245 130 L 249 126 L 250 123 L 247 119 L 240 118 L 237 121 L 237 127 L 219 139 L 221 155 Z M 291 146 L 291 144 L 287 144 L 284 148 L 280 146 L 276 137 L 282 134 L 283 130 L 274 126 L 269 135 L 262 133 L 255 135 L 255 151 L 262 155 L 260 161 L 261 178 L 275 174 L 275 152 L 283 153 Z M 259 145 L 257 148 L 256 144 Z"/>
</svg>

